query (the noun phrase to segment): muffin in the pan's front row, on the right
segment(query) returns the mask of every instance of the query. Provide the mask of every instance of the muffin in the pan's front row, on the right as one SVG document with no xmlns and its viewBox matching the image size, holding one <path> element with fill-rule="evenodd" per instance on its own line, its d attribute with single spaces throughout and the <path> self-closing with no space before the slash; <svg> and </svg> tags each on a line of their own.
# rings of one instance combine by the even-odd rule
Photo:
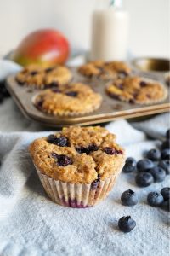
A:
<svg viewBox="0 0 170 256">
<path fill-rule="evenodd" d="M 167 97 L 167 89 L 160 83 L 137 76 L 116 79 L 106 88 L 116 100 L 137 104 L 161 102 Z"/>
</svg>

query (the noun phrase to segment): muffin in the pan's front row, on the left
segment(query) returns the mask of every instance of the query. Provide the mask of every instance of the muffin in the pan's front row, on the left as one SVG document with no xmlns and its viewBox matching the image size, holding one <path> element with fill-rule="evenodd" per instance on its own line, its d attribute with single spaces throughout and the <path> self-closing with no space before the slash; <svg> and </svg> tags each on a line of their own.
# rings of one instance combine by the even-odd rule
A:
<svg viewBox="0 0 170 256">
<path fill-rule="evenodd" d="M 71 116 L 90 113 L 99 108 L 102 97 L 86 84 L 67 84 L 43 90 L 35 98 L 35 106 L 44 113 Z"/>
</svg>

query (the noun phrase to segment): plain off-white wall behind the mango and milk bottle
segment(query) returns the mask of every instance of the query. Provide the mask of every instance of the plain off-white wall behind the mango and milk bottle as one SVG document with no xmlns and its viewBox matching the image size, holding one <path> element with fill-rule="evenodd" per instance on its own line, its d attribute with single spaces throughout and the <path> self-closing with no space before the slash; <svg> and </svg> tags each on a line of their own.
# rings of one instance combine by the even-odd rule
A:
<svg viewBox="0 0 170 256">
<path fill-rule="evenodd" d="M 14 49 L 29 32 L 54 27 L 73 50 L 90 46 L 91 15 L 99 0 L 0 0 L 0 55 Z M 168 0 L 125 0 L 130 13 L 129 52 L 169 56 Z"/>
</svg>

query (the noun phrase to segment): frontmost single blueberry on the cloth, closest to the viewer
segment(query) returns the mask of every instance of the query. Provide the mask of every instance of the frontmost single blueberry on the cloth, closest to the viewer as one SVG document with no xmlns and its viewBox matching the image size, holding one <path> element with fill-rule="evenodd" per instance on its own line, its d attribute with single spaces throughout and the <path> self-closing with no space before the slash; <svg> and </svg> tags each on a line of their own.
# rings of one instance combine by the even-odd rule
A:
<svg viewBox="0 0 170 256">
<path fill-rule="evenodd" d="M 130 216 L 123 216 L 118 221 L 118 227 L 122 232 L 130 232 L 136 226 L 136 222 Z"/>
</svg>

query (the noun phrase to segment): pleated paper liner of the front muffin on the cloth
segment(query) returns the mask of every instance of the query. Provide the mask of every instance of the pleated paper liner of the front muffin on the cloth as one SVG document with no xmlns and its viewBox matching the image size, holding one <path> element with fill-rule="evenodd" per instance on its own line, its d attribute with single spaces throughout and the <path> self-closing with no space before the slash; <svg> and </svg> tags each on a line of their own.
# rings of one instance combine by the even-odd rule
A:
<svg viewBox="0 0 170 256">
<path fill-rule="evenodd" d="M 37 166 L 35 167 L 43 188 L 54 202 L 65 207 L 85 208 L 93 207 L 99 201 L 105 199 L 116 183 L 116 177 L 122 171 L 122 166 L 120 166 L 116 174 L 105 178 L 104 181 L 97 181 L 95 183 L 61 182 L 48 177 Z"/>
</svg>

